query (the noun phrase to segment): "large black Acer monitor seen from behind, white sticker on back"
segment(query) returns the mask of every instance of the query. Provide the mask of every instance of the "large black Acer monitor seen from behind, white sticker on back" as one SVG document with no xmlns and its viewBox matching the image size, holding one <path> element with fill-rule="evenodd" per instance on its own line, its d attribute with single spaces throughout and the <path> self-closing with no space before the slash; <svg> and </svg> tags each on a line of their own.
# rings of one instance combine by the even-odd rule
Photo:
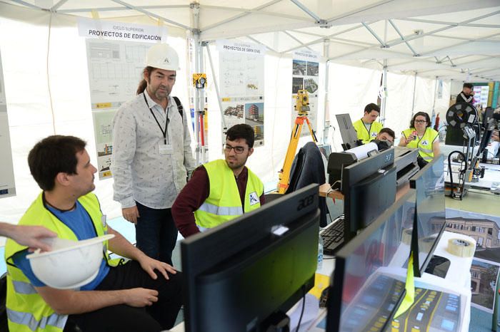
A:
<svg viewBox="0 0 500 332">
<path fill-rule="evenodd" d="M 266 331 L 314 286 L 318 185 L 181 242 L 186 332 Z"/>
</svg>

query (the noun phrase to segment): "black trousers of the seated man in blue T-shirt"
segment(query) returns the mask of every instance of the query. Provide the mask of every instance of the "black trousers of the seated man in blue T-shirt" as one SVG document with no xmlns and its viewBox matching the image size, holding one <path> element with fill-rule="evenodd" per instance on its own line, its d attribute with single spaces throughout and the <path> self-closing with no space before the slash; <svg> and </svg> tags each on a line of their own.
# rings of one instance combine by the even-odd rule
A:
<svg viewBox="0 0 500 332">
<path fill-rule="evenodd" d="M 70 315 L 64 331 L 71 331 L 70 326 L 74 325 L 83 332 L 158 332 L 171 328 L 182 305 L 181 272 L 169 274 L 169 280 L 158 271 L 156 273 L 158 278 L 151 279 L 136 261 L 111 268 L 96 291 L 136 287 L 155 289 L 159 293 L 158 302 L 145 308 L 121 304 L 89 313 Z"/>
</svg>

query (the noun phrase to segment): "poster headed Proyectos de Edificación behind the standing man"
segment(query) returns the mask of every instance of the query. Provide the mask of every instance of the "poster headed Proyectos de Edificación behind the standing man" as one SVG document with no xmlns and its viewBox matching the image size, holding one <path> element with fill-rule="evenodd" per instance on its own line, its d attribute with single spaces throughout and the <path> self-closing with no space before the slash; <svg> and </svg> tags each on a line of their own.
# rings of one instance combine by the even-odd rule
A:
<svg viewBox="0 0 500 332">
<path fill-rule="evenodd" d="M 86 25 L 89 22 L 84 21 Z M 104 28 L 101 26 L 101 30 Z M 89 31 L 84 26 L 82 31 Z M 100 31 L 99 28 L 97 28 Z M 136 33 L 121 33 L 121 40 L 116 39 L 116 33 L 101 33 L 86 35 L 87 63 L 89 70 L 90 99 L 92 105 L 92 118 L 94 119 L 94 135 L 96 138 L 97 169 L 99 179 L 111 177 L 111 153 L 113 152 L 113 133 L 111 121 L 120 105 L 131 100 L 136 95 L 137 85 L 142 79 L 144 58 L 151 43 L 147 41 L 161 41 L 165 34 L 156 30 L 151 32 L 151 27 L 136 24 L 111 24 L 108 30 L 136 31 Z M 107 30 L 106 30 L 107 31 Z M 146 33 L 144 36 L 153 36 L 149 39 L 138 39 L 137 33 Z M 106 36 L 104 39 L 102 36 Z M 126 36 L 130 36 L 128 40 Z M 92 38 L 94 37 L 94 38 Z M 132 40 L 132 41 L 131 41 Z M 136 41 L 141 40 L 141 42 Z"/>
</svg>

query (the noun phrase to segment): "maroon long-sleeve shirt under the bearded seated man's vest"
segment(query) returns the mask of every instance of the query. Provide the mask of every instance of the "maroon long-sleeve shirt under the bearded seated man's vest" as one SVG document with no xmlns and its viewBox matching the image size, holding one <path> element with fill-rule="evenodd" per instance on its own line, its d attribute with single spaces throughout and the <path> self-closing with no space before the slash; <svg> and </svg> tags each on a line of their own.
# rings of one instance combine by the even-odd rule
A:
<svg viewBox="0 0 500 332">
<path fill-rule="evenodd" d="M 249 171 L 246 167 L 243 168 L 238 177 L 234 177 L 238 186 L 241 206 L 245 208 L 245 190 L 246 181 L 249 178 Z M 203 165 L 194 170 L 191 179 L 177 196 L 174 205 L 172 205 L 172 217 L 177 229 L 183 237 L 199 233 L 194 219 L 194 212 L 201 207 L 201 204 L 209 197 L 210 181 L 209 175 Z M 261 205 L 264 204 L 264 193 L 259 197 Z"/>
</svg>

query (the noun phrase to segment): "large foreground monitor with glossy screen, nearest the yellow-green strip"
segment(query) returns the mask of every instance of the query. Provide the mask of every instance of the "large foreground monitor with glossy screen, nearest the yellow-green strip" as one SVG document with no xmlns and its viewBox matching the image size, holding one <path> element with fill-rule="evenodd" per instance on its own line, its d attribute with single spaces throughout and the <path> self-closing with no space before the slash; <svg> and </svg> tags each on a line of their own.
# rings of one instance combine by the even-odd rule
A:
<svg viewBox="0 0 500 332">
<path fill-rule="evenodd" d="M 409 190 L 337 252 L 326 331 L 385 331 L 405 292 L 414 206 Z"/>
</svg>

